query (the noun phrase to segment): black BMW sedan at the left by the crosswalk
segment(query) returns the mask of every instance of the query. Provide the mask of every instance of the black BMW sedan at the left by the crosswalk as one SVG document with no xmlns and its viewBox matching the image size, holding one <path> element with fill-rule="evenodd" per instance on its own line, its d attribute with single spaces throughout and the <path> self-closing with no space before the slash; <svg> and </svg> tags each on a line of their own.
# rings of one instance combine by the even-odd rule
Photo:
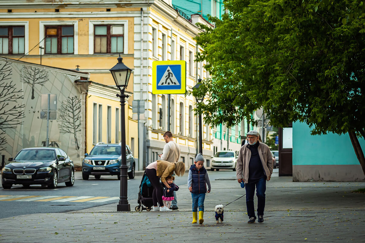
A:
<svg viewBox="0 0 365 243">
<path fill-rule="evenodd" d="M 29 187 L 33 184 L 56 188 L 64 182 L 72 187 L 74 183 L 73 161 L 59 148 L 27 148 L 9 158 L 1 173 L 1 184 L 10 189 L 14 184 Z"/>
</svg>

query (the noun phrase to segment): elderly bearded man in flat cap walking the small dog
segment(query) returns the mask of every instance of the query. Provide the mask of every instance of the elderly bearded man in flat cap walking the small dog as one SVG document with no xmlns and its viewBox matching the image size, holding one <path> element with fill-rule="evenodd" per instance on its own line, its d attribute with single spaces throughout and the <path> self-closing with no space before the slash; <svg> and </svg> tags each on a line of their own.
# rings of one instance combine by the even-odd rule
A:
<svg viewBox="0 0 365 243">
<path fill-rule="evenodd" d="M 273 158 L 268 145 L 259 142 L 260 133 L 250 131 L 247 133 L 248 144 L 241 147 L 237 159 L 237 180 L 242 181 L 246 188 L 246 206 L 249 221 L 255 223 L 255 207 L 253 197 L 257 196 L 257 222 L 264 222 L 266 181 L 273 173 Z"/>
</svg>

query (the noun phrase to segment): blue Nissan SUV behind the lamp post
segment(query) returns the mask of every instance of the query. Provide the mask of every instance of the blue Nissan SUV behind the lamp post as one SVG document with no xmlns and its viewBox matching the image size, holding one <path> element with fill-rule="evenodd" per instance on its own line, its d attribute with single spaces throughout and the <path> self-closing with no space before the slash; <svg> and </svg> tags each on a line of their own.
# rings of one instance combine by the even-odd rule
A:
<svg viewBox="0 0 365 243">
<path fill-rule="evenodd" d="M 91 150 L 90 154 L 85 153 L 82 161 L 82 179 L 88 180 L 89 176 L 95 176 L 100 179 L 102 175 L 116 175 L 120 180 L 121 145 L 97 143 Z M 131 149 L 126 145 L 126 157 L 128 166 L 128 177 L 133 179 L 135 175 L 135 160 Z"/>
</svg>

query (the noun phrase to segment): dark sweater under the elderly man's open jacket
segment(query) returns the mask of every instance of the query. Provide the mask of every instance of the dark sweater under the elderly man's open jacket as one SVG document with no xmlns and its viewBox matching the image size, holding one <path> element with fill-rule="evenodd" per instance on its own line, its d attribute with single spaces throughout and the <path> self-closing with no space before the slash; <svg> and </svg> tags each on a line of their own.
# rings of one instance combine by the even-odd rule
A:
<svg viewBox="0 0 365 243">
<path fill-rule="evenodd" d="M 247 145 L 251 151 L 251 158 L 249 161 L 249 183 L 266 177 L 264 168 L 262 168 L 260 156 L 258 155 L 258 145 L 258 141 L 254 145 Z"/>
</svg>

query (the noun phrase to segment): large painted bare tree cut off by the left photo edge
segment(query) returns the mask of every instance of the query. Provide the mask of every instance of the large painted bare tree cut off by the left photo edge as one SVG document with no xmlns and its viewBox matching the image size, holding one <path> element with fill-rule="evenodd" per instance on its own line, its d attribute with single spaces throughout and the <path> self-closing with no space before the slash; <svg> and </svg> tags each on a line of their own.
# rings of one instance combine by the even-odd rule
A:
<svg viewBox="0 0 365 243">
<path fill-rule="evenodd" d="M 22 89 L 16 87 L 11 76 L 11 63 L 0 63 L 0 150 L 6 144 L 4 129 L 16 129 L 24 118 Z"/>
</svg>

